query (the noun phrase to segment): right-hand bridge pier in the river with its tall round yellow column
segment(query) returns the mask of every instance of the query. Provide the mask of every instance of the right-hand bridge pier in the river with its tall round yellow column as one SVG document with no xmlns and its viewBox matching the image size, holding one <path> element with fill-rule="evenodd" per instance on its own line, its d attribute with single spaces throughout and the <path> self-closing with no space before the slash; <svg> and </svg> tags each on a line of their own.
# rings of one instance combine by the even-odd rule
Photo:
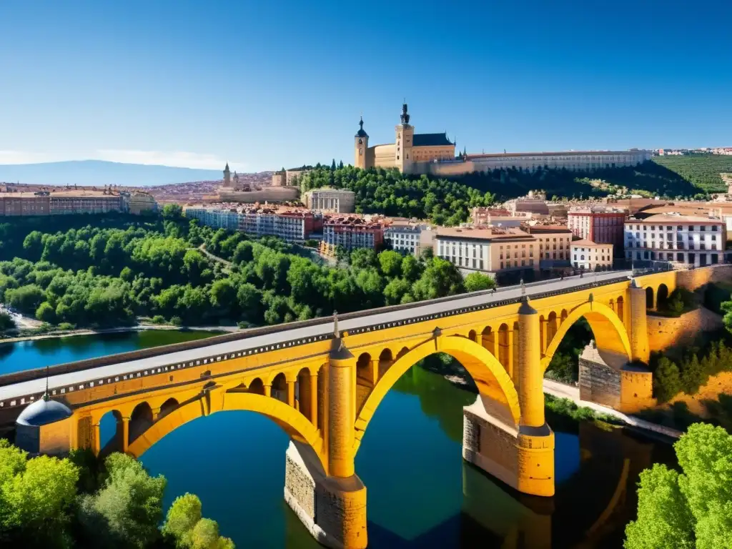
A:
<svg viewBox="0 0 732 549">
<path fill-rule="evenodd" d="M 544 417 L 539 315 L 528 300 L 518 313 L 520 423 L 479 395 L 463 408 L 463 458 L 520 492 L 553 496 L 554 433 Z"/>
</svg>

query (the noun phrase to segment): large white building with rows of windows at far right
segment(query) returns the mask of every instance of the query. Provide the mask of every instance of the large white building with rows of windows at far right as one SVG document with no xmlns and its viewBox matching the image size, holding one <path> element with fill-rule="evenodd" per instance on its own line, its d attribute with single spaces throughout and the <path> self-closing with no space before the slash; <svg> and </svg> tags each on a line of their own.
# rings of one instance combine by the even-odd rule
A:
<svg viewBox="0 0 732 549">
<path fill-rule="evenodd" d="M 724 262 L 726 226 L 719 217 L 656 214 L 624 224 L 625 257 L 687 266 Z"/>
</svg>

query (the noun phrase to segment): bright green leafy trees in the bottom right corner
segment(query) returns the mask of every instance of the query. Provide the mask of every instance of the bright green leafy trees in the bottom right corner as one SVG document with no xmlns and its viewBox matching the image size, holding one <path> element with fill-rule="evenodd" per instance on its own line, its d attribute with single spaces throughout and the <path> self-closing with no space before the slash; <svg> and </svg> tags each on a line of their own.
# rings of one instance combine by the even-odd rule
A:
<svg viewBox="0 0 732 549">
<path fill-rule="evenodd" d="M 673 447 L 681 473 L 660 464 L 641 473 L 638 519 L 625 529 L 625 549 L 729 547 L 732 436 L 698 423 Z"/>
</svg>

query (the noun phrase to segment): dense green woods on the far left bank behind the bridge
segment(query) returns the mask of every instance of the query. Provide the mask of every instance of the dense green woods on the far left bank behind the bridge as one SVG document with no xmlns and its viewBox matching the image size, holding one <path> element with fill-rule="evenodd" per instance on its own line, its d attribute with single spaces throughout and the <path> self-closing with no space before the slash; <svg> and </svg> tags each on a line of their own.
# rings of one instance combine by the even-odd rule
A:
<svg viewBox="0 0 732 549">
<path fill-rule="evenodd" d="M 163 220 L 128 218 L 114 228 L 47 233 L 41 223 L 23 220 L 5 242 L 17 256 L 0 262 L 0 296 L 50 324 L 119 326 L 138 316 L 187 325 L 279 324 L 494 284 L 485 275 L 463 283 L 448 261 L 392 250 L 354 250 L 346 268 L 324 266 L 302 248 L 201 227 L 168 206 Z M 209 258 L 202 244 L 231 266 Z"/>
</svg>

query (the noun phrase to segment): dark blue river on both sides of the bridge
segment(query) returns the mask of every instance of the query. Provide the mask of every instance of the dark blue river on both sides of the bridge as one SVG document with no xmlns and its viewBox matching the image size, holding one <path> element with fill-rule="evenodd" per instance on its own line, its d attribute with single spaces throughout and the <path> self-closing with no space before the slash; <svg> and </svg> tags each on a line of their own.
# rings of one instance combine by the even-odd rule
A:
<svg viewBox="0 0 732 549">
<path fill-rule="evenodd" d="M 0 346 L 0 372 L 206 335 L 12 343 Z M 371 548 L 619 548 L 635 516 L 638 474 L 653 462 L 675 463 L 663 441 L 548 413 L 556 433 L 556 496 L 525 496 L 463 461 L 462 407 L 474 399 L 419 366 L 386 395 L 356 456 Z M 113 425 L 102 425 L 102 438 L 112 432 Z M 203 515 L 239 548 L 319 548 L 283 500 L 287 445 L 269 419 L 232 411 L 182 425 L 141 460 L 168 479 L 166 509 L 182 493 L 198 494 Z"/>
</svg>

